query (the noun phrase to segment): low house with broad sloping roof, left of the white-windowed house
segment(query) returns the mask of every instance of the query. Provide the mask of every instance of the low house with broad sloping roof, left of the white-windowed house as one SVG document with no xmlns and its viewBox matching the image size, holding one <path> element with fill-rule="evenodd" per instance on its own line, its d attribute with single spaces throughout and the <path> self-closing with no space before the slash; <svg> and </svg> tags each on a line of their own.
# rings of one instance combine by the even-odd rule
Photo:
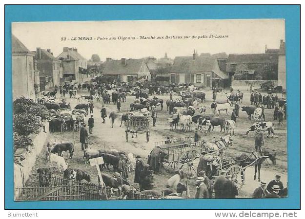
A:
<svg viewBox="0 0 305 219">
<path fill-rule="evenodd" d="M 151 80 L 150 72 L 144 59 L 114 60 L 106 58 L 103 76 L 112 77 L 117 82 L 132 83 Z"/>
</svg>

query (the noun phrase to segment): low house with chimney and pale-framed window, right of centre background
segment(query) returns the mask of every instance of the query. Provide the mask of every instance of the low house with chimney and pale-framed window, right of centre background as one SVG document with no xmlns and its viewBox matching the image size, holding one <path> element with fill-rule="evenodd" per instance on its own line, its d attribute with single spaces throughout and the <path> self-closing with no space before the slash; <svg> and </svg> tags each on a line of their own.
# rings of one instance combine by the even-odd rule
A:
<svg viewBox="0 0 305 219">
<path fill-rule="evenodd" d="M 170 82 L 189 83 L 203 88 L 228 86 L 228 76 L 221 70 L 226 55 L 195 53 L 193 56 L 177 56 L 170 70 Z M 220 67 L 221 66 L 221 67 Z"/>
</svg>

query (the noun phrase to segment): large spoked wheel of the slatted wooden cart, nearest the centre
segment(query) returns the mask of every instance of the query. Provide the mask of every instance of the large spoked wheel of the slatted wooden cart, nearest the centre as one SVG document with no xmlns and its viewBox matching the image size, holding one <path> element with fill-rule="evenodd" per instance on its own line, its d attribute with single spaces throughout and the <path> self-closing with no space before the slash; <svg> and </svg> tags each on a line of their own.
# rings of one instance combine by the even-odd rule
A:
<svg viewBox="0 0 305 219">
<path fill-rule="evenodd" d="M 200 157 L 200 153 L 196 150 L 185 151 L 180 159 L 180 170 L 183 170 L 189 178 L 194 178 L 197 176 L 197 167 Z M 197 160 L 197 161 L 196 161 Z"/>
</svg>

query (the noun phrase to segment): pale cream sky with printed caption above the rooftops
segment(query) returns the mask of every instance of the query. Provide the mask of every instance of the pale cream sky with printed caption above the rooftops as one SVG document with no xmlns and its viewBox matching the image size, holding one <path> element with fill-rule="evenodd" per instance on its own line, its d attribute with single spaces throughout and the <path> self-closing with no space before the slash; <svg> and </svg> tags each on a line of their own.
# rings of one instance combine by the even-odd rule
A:
<svg viewBox="0 0 305 219">
<path fill-rule="evenodd" d="M 284 19 L 234 20 L 141 20 L 141 21 L 73 21 L 73 22 L 14 22 L 12 34 L 31 51 L 37 47 L 51 49 L 54 56 L 63 47 L 76 47 L 86 59 L 98 54 L 115 59 L 154 56 L 170 58 L 201 53 L 251 54 L 278 49 L 285 41 Z M 198 38 L 198 36 L 207 38 Z M 213 38 L 209 38 L 212 35 Z M 216 38 L 217 36 L 228 36 Z M 140 36 L 156 37 L 141 39 Z M 163 36 L 163 39 L 157 39 Z M 166 39 L 165 36 L 182 36 Z M 189 38 L 184 38 L 184 36 Z M 194 38 L 194 37 L 196 38 Z M 64 40 L 65 37 L 65 40 Z M 93 40 L 72 40 L 92 37 Z M 107 37 L 100 40 L 98 37 Z M 110 39 L 116 37 L 116 39 Z M 119 39 L 135 37 L 135 39 Z M 193 37 L 193 38 L 192 38 Z M 62 40 L 61 40 L 62 39 Z"/>
</svg>

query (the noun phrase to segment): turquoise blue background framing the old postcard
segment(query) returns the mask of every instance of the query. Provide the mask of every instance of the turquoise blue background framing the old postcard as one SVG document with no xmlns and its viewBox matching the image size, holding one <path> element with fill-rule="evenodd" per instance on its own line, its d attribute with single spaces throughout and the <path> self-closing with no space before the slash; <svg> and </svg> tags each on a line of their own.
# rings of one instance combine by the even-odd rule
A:
<svg viewBox="0 0 305 219">
<path fill-rule="evenodd" d="M 285 18 L 288 110 L 286 199 L 13 201 L 11 22 L 148 19 Z M 39 36 L 38 36 L 39 37 Z M 264 37 L 264 36 L 262 36 Z M 5 208 L 6 209 L 299 209 L 300 208 L 300 6 L 298 5 L 6 5 L 5 6 Z"/>
</svg>

